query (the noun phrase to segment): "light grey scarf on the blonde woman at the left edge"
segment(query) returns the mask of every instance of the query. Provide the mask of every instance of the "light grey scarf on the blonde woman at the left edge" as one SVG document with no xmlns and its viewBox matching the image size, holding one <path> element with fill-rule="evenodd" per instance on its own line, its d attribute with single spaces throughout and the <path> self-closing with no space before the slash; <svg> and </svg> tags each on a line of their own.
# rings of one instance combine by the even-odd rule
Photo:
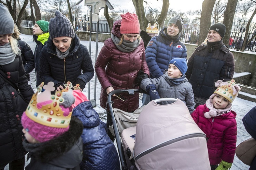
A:
<svg viewBox="0 0 256 170">
<path fill-rule="evenodd" d="M 13 52 L 11 44 L 6 43 L 0 46 L 0 65 L 12 63 L 16 54 Z"/>
</svg>

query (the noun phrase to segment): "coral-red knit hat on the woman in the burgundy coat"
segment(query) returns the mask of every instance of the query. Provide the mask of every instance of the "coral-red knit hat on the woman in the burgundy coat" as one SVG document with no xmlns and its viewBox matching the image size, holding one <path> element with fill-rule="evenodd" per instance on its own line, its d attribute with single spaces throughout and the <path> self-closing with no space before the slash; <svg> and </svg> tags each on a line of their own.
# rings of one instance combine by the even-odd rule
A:
<svg viewBox="0 0 256 170">
<path fill-rule="evenodd" d="M 140 33 L 140 23 L 138 16 L 136 14 L 122 14 L 122 21 L 120 26 L 121 34 L 139 34 Z"/>
</svg>

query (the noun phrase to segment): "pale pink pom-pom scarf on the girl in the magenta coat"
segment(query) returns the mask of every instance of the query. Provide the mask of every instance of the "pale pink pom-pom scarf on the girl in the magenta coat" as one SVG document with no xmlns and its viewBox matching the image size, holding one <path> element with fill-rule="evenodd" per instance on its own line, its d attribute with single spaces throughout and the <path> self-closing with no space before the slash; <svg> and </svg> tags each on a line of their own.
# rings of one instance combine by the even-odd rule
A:
<svg viewBox="0 0 256 170">
<path fill-rule="evenodd" d="M 221 116 L 225 113 L 229 113 L 231 110 L 231 107 L 232 107 L 232 104 L 229 103 L 229 105 L 223 109 L 216 109 L 216 108 L 214 108 L 214 106 L 212 104 L 212 99 L 208 99 L 205 102 L 205 105 L 207 108 L 210 109 L 209 112 L 204 113 L 204 117 L 206 117 L 207 119 L 210 119 L 211 117 Z"/>
</svg>

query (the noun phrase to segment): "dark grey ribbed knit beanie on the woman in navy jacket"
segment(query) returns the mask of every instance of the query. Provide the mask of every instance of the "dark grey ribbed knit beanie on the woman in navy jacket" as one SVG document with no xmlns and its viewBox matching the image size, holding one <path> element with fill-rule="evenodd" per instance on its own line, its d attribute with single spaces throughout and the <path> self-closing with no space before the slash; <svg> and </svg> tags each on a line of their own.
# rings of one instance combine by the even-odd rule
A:
<svg viewBox="0 0 256 170">
<path fill-rule="evenodd" d="M 75 31 L 70 20 L 59 11 L 55 12 L 55 18 L 50 19 L 49 34 L 51 39 L 62 36 L 75 37 Z"/>
</svg>

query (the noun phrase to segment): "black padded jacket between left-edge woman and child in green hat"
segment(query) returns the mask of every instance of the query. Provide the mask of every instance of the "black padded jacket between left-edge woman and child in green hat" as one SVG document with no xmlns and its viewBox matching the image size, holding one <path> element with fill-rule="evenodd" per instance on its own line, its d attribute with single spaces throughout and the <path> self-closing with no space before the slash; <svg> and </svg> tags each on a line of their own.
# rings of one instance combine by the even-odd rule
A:
<svg viewBox="0 0 256 170">
<path fill-rule="evenodd" d="M 25 41 L 22 41 L 20 38 L 18 39 L 18 45 L 19 45 L 19 49 L 21 51 L 24 69 L 26 71 L 26 74 L 29 74 L 35 68 L 34 54 L 31 50 L 30 46 Z"/>
</svg>

